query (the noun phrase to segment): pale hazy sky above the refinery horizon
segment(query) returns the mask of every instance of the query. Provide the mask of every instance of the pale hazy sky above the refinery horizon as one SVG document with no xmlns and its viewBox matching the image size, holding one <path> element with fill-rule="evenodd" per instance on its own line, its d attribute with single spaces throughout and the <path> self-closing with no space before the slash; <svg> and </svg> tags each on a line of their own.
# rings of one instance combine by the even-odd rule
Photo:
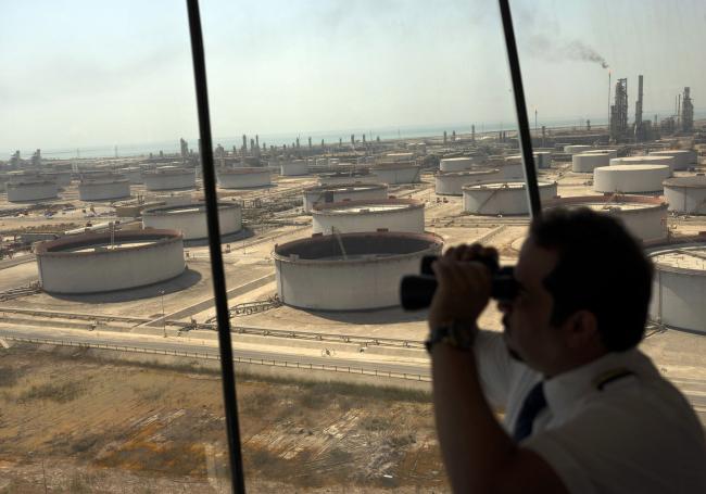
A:
<svg viewBox="0 0 706 494">
<path fill-rule="evenodd" d="M 514 0 L 528 112 L 605 119 L 608 69 L 645 118 L 706 109 L 706 2 Z M 493 0 L 202 0 L 215 140 L 513 126 Z M 0 159 L 198 136 L 186 2 L 1 1 Z M 3 155 L 4 154 L 4 155 Z"/>
</svg>

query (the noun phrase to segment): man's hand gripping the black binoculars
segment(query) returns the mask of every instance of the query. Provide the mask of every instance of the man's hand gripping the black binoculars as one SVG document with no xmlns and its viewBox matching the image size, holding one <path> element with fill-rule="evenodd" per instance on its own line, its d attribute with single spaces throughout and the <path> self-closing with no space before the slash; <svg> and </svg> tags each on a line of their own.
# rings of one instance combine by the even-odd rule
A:
<svg viewBox="0 0 706 494">
<path fill-rule="evenodd" d="M 432 265 L 439 286 L 429 308 L 429 328 L 452 321 L 475 325 L 490 299 L 491 273 L 478 262 L 491 258 L 497 262 L 497 251 L 461 244 L 450 248 Z"/>
</svg>

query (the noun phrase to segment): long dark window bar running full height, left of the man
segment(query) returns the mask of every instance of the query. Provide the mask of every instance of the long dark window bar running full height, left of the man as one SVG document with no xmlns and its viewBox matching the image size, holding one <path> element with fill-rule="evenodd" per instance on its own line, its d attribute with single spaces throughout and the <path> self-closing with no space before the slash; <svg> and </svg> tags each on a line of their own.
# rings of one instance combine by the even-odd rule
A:
<svg viewBox="0 0 706 494">
<path fill-rule="evenodd" d="M 189 12 L 189 33 L 191 35 L 191 59 L 197 90 L 199 112 L 199 135 L 201 137 L 201 167 L 203 170 L 203 191 L 206 202 L 206 224 L 209 227 L 209 251 L 211 253 L 211 271 L 213 292 L 216 301 L 216 319 L 218 322 L 218 350 L 220 352 L 220 373 L 223 400 L 226 414 L 226 433 L 230 463 L 230 480 L 234 493 L 244 493 L 245 483 L 240 451 L 240 428 L 238 425 L 238 402 L 236 397 L 236 376 L 230 340 L 230 315 L 228 314 L 228 295 L 226 277 L 220 253 L 220 228 L 218 226 L 218 203 L 216 198 L 216 178 L 213 166 L 213 145 L 211 142 L 211 116 L 209 114 L 209 92 L 206 86 L 206 65 L 203 52 L 203 33 L 199 1 L 187 0 Z"/>
</svg>

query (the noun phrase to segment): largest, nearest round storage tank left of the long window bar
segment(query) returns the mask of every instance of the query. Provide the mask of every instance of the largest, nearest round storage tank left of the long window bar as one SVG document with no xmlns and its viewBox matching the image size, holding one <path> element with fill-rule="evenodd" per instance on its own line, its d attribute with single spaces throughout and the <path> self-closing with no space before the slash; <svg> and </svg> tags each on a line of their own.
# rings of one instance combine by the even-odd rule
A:
<svg viewBox="0 0 706 494">
<path fill-rule="evenodd" d="M 98 293 L 157 283 L 186 269 L 181 233 L 117 230 L 80 233 L 36 248 L 39 282 L 50 293 Z"/>
</svg>

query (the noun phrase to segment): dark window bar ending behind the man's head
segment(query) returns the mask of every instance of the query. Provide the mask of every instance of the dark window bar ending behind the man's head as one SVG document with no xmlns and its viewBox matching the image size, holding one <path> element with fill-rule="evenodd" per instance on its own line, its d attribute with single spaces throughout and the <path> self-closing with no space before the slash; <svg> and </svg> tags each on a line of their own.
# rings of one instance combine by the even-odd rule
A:
<svg viewBox="0 0 706 494">
<path fill-rule="evenodd" d="M 519 56 L 517 55 L 513 16 L 509 11 L 508 0 L 499 0 L 499 3 L 500 15 L 503 20 L 503 31 L 505 33 L 505 47 L 507 49 L 509 74 L 513 79 L 513 93 L 515 94 L 515 110 L 517 112 L 522 163 L 525 164 L 525 183 L 527 185 L 530 216 L 535 217 L 542 214 L 542 203 L 540 200 L 539 186 L 537 183 L 534 153 L 532 152 L 532 137 L 530 136 L 529 119 L 527 118 L 527 103 L 525 102 L 525 90 L 522 89 L 522 74 L 519 69 Z"/>
</svg>

